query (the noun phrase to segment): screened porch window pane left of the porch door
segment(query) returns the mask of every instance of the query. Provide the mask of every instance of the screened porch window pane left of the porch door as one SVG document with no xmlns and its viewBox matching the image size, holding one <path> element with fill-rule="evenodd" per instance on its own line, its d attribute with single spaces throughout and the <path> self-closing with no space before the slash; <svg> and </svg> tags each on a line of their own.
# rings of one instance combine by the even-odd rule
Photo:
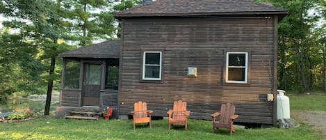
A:
<svg viewBox="0 0 326 140">
<path fill-rule="evenodd" d="M 79 88 L 79 61 L 67 60 L 65 64 L 65 87 Z"/>
</svg>

